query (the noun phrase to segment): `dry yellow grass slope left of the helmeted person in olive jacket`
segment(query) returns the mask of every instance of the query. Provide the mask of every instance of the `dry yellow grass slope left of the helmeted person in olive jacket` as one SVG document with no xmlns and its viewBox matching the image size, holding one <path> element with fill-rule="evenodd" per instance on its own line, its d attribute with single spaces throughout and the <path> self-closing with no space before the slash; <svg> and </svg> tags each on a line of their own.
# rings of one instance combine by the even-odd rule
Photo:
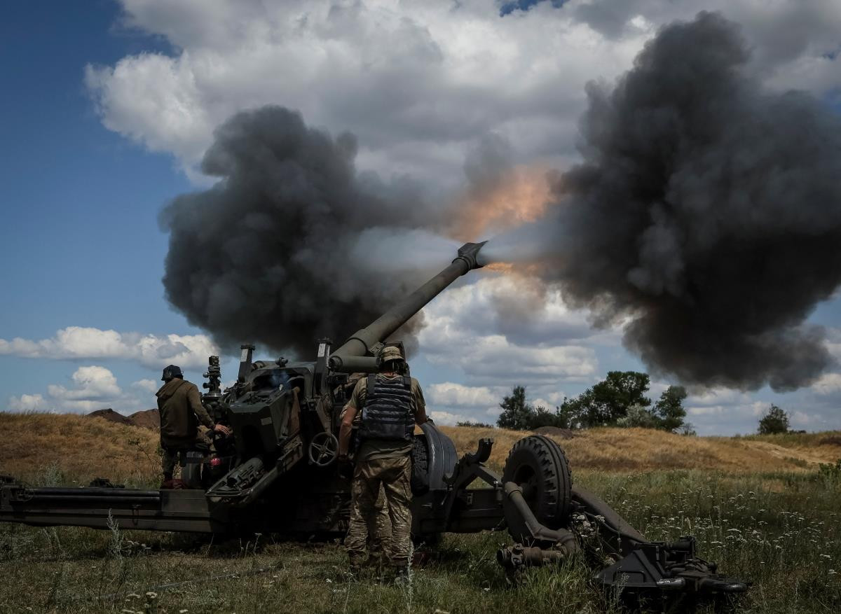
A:
<svg viewBox="0 0 841 614">
<path fill-rule="evenodd" d="M 135 483 L 158 479 L 158 435 L 77 414 L 0 412 L 0 474 L 34 479 L 57 468 L 80 483 L 95 477 Z"/>
</svg>

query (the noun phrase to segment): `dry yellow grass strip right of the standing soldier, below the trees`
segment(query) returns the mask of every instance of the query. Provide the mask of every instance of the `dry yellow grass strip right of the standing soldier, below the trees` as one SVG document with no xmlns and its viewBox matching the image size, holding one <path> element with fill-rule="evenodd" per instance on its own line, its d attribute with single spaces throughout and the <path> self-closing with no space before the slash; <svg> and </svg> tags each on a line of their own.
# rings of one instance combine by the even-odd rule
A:
<svg viewBox="0 0 841 614">
<path fill-rule="evenodd" d="M 479 438 L 495 439 L 489 464 L 500 468 L 516 441 L 528 433 L 502 428 L 442 427 L 459 454 L 476 449 Z M 814 470 L 841 458 L 838 433 L 807 433 L 797 440 L 685 437 L 646 428 L 591 428 L 571 439 L 557 438 L 573 470 L 649 471 L 669 469 L 755 471 Z M 821 443 L 825 442 L 825 443 Z"/>
</svg>

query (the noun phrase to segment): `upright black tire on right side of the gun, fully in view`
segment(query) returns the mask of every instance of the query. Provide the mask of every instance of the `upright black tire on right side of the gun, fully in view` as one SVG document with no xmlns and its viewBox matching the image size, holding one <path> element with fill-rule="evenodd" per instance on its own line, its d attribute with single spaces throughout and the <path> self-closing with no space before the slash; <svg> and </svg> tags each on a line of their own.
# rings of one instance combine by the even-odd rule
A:
<svg viewBox="0 0 841 614">
<path fill-rule="evenodd" d="M 569 520 L 573 478 L 566 454 L 552 439 L 530 435 L 515 443 L 505 460 L 502 481 L 522 487 L 537 522 L 545 527 L 557 529 Z"/>
</svg>

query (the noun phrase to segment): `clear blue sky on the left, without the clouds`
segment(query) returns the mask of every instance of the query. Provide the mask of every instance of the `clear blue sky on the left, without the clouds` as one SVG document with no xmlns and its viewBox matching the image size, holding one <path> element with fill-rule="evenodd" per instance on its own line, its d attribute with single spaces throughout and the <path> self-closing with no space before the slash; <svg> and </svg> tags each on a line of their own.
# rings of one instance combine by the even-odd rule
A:
<svg viewBox="0 0 841 614">
<path fill-rule="evenodd" d="M 0 338 L 69 325 L 147 333 L 193 330 L 163 300 L 162 204 L 191 184 L 171 156 L 105 129 L 82 81 L 160 37 L 119 28 L 112 2 L 13 3 L 0 22 Z M 116 375 L 152 370 L 116 362 Z M 63 361 L 0 356 L 3 397 L 66 380 Z"/>
</svg>

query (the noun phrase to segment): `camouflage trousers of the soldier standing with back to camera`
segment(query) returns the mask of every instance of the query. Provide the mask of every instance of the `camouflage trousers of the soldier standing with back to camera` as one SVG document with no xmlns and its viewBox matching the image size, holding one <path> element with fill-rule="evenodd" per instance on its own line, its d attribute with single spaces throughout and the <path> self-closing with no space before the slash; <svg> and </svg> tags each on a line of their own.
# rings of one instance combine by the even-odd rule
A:
<svg viewBox="0 0 841 614">
<path fill-rule="evenodd" d="M 377 542 L 382 543 L 383 553 L 391 564 L 398 567 L 409 564 L 411 467 L 409 456 L 357 463 L 351 488 L 351 522 L 345 538 L 351 564 L 365 561 L 366 545 L 375 554 Z"/>
</svg>

